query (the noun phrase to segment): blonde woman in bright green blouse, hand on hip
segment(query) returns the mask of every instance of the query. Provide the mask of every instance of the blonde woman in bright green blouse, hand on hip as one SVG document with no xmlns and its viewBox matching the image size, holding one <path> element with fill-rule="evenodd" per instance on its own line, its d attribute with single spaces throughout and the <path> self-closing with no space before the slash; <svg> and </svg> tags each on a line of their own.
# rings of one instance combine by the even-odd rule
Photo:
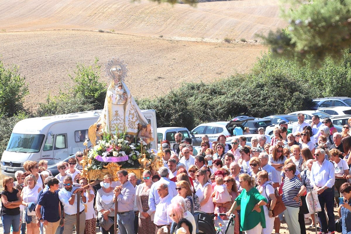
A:
<svg viewBox="0 0 351 234">
<path fill-rule="evenodd" d="M 239 175 L 239 183 L 243 191 L 235 199 L 227 215 L 232 214 L 233 210 L 240 206 L 241 231 L 245 231 L 246 234 L 261 233 L 262 228 L 266 227 L 263 206 L 266 205 L 267 199 L 253 186 L 250 175 Z"/>
</svg>

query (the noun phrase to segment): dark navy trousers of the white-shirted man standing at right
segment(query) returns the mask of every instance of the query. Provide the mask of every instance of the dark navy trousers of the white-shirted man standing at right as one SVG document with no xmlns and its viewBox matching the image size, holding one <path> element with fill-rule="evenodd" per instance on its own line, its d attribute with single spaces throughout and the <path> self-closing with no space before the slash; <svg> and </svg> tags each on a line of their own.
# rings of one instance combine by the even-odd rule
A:
<svg viewBox="0 0 351 234">
<path fill-rule="evenodd" d="M 322 211 L 318 213 L 318 220 L 320 223 L 320 231 L 327 233 L 335 231 L 335 217 L 334 217 L 334 186 L 327 188 L 323 193 L 318 195 L 318 200 Z M 327 215 L 329 223 L 327 225 L 327 219 L 324 213 L 324 204 L 327 208 Z"/>
</svg>

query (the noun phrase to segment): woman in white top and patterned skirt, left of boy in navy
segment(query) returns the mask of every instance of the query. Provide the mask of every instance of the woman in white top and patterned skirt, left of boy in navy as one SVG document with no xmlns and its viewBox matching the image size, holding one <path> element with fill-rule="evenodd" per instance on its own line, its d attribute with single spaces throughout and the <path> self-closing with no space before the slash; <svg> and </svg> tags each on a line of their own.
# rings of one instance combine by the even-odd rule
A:
<svg viewBox="0 0 351 234">
<path fill-rule="evenodd" d="M 26 220 L 26 215 L 31 216 L 31 219 L 27 221 L 27 234 L 37 234 L 39 233 L 39 220 L 37 220 L 37 215 L 35 212 L 29 215 L 29 207 L 28 205 L 33 202 L 37 204 L 38 195 L 41 188 L 37 185 L 37 180 L 35 176 L 30 174 L 24 179 L 25 187 L 22 189 L 21 198 L 22 205 L 26 207 L 26 212 L 24 212 L 23 220 Z"/>
</svg>

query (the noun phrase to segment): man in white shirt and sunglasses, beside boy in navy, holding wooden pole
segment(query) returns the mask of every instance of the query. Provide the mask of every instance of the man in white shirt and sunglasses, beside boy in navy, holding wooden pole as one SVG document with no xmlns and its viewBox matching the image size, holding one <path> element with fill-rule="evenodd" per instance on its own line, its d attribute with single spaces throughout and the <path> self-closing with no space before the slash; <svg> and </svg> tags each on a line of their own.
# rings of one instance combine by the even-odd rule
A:
<svg viewBox="0 0 351 234">
<path fill-rule="evenodd" d="M 59 199 L 64 206 L 65 224 L 64 234 L 72 234 L 73 226 L 77 227 L 77 193 L 81 193 L 79 204 L 79 234 L 84 234 L 85 229 L 85 212 L 84 205 L 87 201 L 86 196 L 82 193 L 80 187 L 72 186 L 72 177 L 67 175 L 64 179 L 64 188 L 59 191 Z"/>
</svg>

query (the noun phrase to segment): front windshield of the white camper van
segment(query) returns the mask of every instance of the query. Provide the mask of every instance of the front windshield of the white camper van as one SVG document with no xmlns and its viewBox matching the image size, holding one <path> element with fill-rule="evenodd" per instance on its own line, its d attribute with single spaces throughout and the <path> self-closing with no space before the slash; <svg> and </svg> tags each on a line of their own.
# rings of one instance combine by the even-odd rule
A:
<svg viewBox="0 0 351 234">
<path fill-rule="evenodd" d="M 7 151 L 21 153 L 38 153 L 45 135 L 12 133 Z"/>
</svg>

